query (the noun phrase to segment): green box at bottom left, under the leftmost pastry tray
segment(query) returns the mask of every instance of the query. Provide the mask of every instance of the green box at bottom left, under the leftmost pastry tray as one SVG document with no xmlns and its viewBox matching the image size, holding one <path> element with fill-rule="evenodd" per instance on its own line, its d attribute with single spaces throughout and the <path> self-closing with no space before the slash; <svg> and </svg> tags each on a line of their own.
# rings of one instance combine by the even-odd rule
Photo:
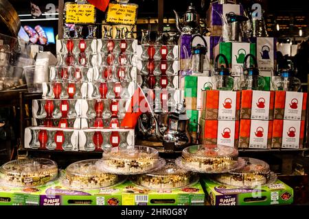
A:
<svg viewBox="0 0 309 219">
<path fill-rule="evenodd" d="M 0 205 L 122 205 L 117 185 L 96 190 L 71 190 L 60 181 L 36 188 L 7 188 L 1 185 Z"/>
</svg>

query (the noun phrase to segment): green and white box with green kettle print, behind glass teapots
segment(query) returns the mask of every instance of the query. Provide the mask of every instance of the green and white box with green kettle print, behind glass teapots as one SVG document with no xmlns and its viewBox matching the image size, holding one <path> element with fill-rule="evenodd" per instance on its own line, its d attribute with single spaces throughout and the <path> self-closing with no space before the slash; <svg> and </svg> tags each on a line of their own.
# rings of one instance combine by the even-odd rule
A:
<svg viewBox="0 0 309 219">
<path fill-rule="evenodd" d="M 229 68 L 231 68 L 231 75 L 240 76 L 244 70 L 244 57 L 249 53 L 256 55 L 255 44 L 249 42 L 219 42 L 214 47 L 214 57 L 219 53 L 227 57 Z M 252 61 L 250 60 L 250 62 Z M 225 61 L 220 57 L 218 66 L 222 64 L 225 65 Z"/>
</svg>

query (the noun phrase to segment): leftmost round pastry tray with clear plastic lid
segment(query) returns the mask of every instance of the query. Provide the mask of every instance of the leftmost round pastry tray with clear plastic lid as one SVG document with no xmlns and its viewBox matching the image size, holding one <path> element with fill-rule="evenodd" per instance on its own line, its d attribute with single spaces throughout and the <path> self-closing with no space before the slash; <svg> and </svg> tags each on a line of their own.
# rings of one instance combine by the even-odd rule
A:
<svg viewBox="0 0 309 219">
<path fill-rule="evenodd" d="M 31 187 L 56 179 L 58 167 L 50 159 L 16 159 L 0 168 L 0 179 L 6 185 Z"/>
</svg>

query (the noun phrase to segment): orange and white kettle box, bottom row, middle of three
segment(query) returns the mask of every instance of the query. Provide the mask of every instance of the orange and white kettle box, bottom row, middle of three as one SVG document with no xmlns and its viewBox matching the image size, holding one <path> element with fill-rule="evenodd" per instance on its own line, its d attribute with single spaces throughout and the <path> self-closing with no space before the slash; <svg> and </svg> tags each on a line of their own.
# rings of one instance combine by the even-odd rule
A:
<svg viewBox="0 0 309 219">
<path fill-rule="evenodd" d="M 273 121 L 240 119 L 239 149 L 270 149 Z"/>
</svg>

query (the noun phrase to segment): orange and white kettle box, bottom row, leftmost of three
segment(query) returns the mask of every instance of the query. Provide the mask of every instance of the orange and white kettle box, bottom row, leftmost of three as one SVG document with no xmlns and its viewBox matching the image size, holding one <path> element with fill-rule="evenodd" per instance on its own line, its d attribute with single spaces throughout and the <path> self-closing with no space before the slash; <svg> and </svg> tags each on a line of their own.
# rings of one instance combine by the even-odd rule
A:
<svg viewBox="0 0 309 219">
<path fill-rule="evenodd" d="M 238 145 L 239 121 L 205 120 L 200 118 L 201 144 Z"/>
</svg>

